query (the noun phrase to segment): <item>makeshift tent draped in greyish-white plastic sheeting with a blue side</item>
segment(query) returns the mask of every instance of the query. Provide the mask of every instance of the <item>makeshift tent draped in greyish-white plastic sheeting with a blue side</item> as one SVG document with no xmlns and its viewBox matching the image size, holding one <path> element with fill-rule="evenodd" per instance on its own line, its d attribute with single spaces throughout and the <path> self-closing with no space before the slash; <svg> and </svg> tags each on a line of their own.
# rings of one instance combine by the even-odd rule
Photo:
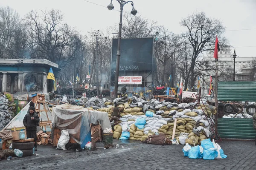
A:
<svg viewBox="0 0 256 170">
<path fill-rule="evenodd" d="M 111 128 L 108 113 L 90 111 L 81 106 L 58 105 L 52 108 L 52 118 L 52 125 L 61 130 L 67 130 L 81 148 L 91 141 L 90 123 L 100 122 L 102 129 Z"/>
</svg>

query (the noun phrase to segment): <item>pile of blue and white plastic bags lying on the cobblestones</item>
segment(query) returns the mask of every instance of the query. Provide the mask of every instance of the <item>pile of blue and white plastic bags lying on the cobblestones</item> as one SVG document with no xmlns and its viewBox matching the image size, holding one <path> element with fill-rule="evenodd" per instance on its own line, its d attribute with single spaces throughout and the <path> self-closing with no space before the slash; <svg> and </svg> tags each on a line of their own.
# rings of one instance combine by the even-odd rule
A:
<svg viewBox="0 0 256 170">
<path fill-rule="evenodd" d="M 210 139 L 205 139 L 201 141 L 201 146 L 197 145 L 191 147 L 188 143 L 183 147 L 184 156 L 187 156 L 191 159 L 224 159 L 227 158 L 227 155 L 224 154 L 224 151 L 221 149 L 220 145 L 215 143 L 214 140 L 211 142 Z"/>
</svg>

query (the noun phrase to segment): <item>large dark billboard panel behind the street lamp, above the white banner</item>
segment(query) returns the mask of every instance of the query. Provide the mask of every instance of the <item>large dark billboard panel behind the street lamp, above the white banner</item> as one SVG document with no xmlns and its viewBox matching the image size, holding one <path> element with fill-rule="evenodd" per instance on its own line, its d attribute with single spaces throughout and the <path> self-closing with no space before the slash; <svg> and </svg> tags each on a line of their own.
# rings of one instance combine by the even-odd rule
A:
<svg viewBox="0 0 256 170">
<path fill-rule="evenodd" d="M 116 70 L 117 42 L 112 40 L 111 71 Z M 153 38 L 121 39 L 119 70 L 152 70 L 153 42 Z"/>
</svg>

